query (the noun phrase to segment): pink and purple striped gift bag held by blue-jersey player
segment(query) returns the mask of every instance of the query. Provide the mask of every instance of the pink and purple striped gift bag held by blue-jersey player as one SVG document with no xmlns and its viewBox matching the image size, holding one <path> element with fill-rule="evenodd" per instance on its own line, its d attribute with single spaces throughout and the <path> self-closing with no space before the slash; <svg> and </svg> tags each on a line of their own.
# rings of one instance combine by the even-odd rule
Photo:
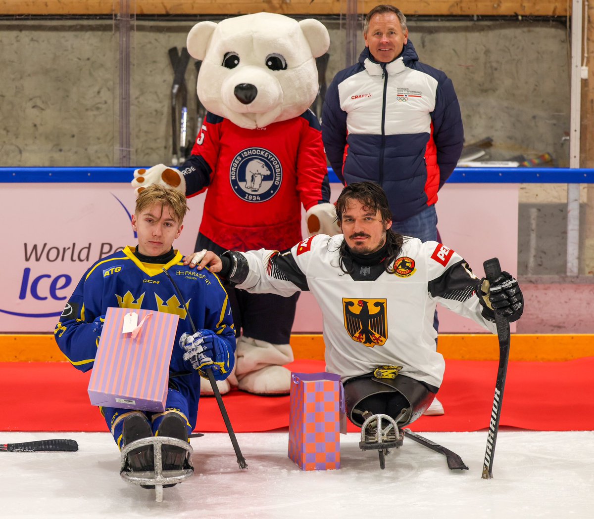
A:
<svg viewBox="0 0 594 519">
<path fill-rule="evenodd" d="M 138 316 L 134 333 L 123 333 L 128 314 Z M 94 406 L 163 411 L 169 362 L 179 316 L 153 310 L 108 308 L 89 380 Z"/>
</svg>

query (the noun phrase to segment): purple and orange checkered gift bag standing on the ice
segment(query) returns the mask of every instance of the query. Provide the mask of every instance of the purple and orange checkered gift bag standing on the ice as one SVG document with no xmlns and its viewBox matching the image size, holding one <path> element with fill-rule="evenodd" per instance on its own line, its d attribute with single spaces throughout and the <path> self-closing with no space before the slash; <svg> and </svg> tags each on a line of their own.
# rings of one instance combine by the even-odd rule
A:
<svg viewBox="0 0 594 519">
<path fill-rule="evenodd" d="M 303 470 L 340 469 L 346 415 L 340 375 L 292 373 L 289 458 Z"/>
</svg>

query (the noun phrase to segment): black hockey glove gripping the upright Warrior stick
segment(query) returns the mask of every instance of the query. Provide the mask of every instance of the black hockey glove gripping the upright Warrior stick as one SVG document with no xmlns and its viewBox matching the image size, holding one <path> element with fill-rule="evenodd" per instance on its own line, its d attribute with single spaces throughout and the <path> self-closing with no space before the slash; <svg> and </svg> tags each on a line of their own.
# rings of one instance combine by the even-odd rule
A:
<svg viewBox="0 0 594 519">
<path fill-rule="evenodd" d="M 495 321 L 495 312 L 513 323 L 522 316 L 524 297 L 518 282 L 507 272 L 495 279 L 492 285 L 489 280 L 482 278 L 476 286 L 476 295 L 483 307 L 482 316 L 489 321 Z"/>
</svg>

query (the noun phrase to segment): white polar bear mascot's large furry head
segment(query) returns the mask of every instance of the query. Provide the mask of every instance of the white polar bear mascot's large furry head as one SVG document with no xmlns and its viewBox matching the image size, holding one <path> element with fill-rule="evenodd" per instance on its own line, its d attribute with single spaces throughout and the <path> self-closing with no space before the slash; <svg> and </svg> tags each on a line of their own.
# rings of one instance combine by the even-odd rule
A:
<svg viewBox="0 0 594 519">
<path fill-rule="evenodd" d="M 208 112 L 242 128 L 297 117 L 318 92 L 315 58 L 327 52 L 326 27 L 308 18 L 258 12 L 203 21 L 189 31 L 188 52 L 202 60 L 198 98 Z"/>
</svg>

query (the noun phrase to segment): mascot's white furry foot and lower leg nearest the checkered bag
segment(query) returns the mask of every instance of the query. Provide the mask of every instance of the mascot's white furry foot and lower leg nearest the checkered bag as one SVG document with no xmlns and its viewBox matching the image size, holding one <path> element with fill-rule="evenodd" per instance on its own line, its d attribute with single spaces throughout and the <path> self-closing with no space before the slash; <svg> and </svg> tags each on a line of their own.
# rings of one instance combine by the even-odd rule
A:
<svg viewBox="0 0 594 519">
<path fill-rule="evenodd" d="M 254 394 L 289 394 L 291 372 L 283 366 L 293 361 L 289 344 L 241 337 L 236 354 L 235 375 L 239 389 Z"/>
</svg>

